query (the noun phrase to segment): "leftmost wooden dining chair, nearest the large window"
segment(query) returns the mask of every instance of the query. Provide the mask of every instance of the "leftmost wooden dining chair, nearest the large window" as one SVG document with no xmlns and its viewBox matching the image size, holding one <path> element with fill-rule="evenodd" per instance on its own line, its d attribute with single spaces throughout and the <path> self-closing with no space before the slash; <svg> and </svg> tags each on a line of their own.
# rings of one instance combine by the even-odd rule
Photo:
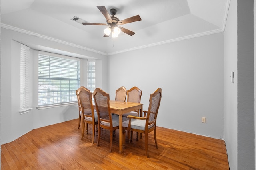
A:
<svg viewBox="0 0 256 170">
<path fill-rule="evenodd" d="M 82 119 L 82 135 L 84 137 L 84 129 L 86 127 L 86 134 L 88 134 L 88 125 L 92 125 L 92 144 L 94 143 L 95 137 L 95 126 L 98 125 L 98 115 L 94 112 L 92 104 L 92 93 L 85 87 L 80 87 L 77 90 L 78 103 L 80 105 L 80 116 Z M 96 131 L 97 131 L 96 127 Z"/>
</svg>

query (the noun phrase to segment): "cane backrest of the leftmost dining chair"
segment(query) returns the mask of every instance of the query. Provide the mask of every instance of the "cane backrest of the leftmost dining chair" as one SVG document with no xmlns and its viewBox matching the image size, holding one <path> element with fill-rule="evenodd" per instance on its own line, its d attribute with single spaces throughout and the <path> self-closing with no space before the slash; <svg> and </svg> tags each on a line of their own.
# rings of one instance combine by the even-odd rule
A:
<svg viewBox="0 0 256 170">
<path fill-rule="evenodd" d="M 92 93 L 89 89 L 85 87 L 78 88 L 77 96 L 78 96 L 78 105 L 81 106 L 82 111 L 82 118 L 84 119 L 84 116 L 92 117 L 94 119 L 94 109 L 92 104 Z"/>
</svg>

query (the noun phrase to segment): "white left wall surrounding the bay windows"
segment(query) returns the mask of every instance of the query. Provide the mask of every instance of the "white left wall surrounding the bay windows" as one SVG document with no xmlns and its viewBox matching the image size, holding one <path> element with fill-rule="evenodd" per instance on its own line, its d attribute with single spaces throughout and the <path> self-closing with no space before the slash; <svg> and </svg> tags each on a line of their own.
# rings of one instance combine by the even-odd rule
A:
<svg viewBox="0 0 256 170">
<path fill-rule="evenodd" d="M 38 106 L 38 49 L 30 50 L 30 64 L 33 70 L 30 76 L 30 92 L 33 109 L 20 115 L 20 42 L 43 49 L 47 47 L 69 53 L 77 52 L 78 55 L 97 59 L 96 85 L 102 88 L 107 87 L 104 85 L 107 83 L 103 82 L 103 77 L 105 78 L 107 74 L 107 70 L 103 70 L 107 67 L 106 56 L 8 29 L 2 28 L 1 31 L 1 144 L 13 141 L 32 129 L 78 118 L 77 104 L 36 109 Z M 86 63 L 86 59 L 82 59 L 81 64 L 86 65 Z M 82 65 L 81 86 L 86 86 L 86 76 L 86 67 Z"/>
</svg>

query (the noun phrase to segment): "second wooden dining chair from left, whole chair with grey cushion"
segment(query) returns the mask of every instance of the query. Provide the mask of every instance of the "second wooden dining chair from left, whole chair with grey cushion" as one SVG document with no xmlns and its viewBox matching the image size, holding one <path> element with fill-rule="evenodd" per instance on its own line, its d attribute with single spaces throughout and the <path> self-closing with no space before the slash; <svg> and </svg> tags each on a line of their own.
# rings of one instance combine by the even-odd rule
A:
<svg viewBox="0 0 256 170">
<path fill-rule="evenodd" d="M 100 143 L 101 128 L 107 129 L 110 131 L 109 152 L 111 153 L 113 131 L 116 129 L 119 129 L 119 117 L 118 115 L 113 115 L 110 111 L 110 104 L 109 104 L 110 98 L 108 93 L 104 92 L 100 88 L 96 88 L 93 92 L 93 97 L 94 97 L 94 102 L 95 102 L 95 106 L 98 114 L 98 122 L 99 122 L 97 146 Z"/>
</svg>

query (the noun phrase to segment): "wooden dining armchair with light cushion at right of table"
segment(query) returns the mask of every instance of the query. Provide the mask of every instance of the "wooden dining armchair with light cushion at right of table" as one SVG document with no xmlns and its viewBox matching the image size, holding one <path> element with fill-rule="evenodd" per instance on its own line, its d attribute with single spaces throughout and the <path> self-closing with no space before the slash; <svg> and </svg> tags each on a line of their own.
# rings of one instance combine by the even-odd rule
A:
<svg viewBox="0 0 256 170">
<path fill-rule="evenodd" d="M 149 98 L 149 106 L 148 111 L 143 111 L 143 117 L 136 117 L 136 116 L 127 116 L 129 119 L 128 121 L 123 122 L 123 129 L 128 130 L 128 138 L 130 142 L 130 131 L 136 131 L 138 133 L 145 134 L 145 150 L 146 155 L 149 158 L 148 154 L 148 133 L 154 131 L 154 139 L 156 148 L 158 149 L 157 142 L 156 142 L 156 118 L 158 115 L 158 109 L 160 105 L 160 101 L 162 98 L 162 89 L 158 88 L 154 93 L 150 94 Z M 123 131 L 125 135 L 125 131 Z M 123 137 L 123 145 L 124 145 Z"/>
</svg>

